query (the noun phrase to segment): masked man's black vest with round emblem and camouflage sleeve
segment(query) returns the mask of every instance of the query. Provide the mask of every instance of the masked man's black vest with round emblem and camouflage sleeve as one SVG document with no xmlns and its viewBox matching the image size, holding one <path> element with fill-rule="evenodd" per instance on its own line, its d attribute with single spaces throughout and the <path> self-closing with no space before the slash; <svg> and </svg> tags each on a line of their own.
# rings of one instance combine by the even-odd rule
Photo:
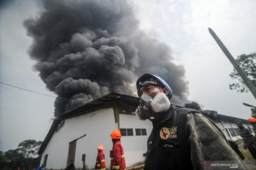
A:
<svg viewBox="0 0 256 170">
<path fill-rule="evenodd" d="M 204 169 L 206 161 L 235 161 L 247 169 L 217 125 L 199 111 L 171 106 L 151 121 L 145 170 Z"/>
</svg>

